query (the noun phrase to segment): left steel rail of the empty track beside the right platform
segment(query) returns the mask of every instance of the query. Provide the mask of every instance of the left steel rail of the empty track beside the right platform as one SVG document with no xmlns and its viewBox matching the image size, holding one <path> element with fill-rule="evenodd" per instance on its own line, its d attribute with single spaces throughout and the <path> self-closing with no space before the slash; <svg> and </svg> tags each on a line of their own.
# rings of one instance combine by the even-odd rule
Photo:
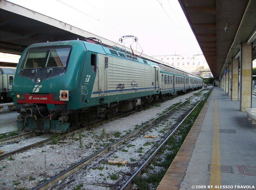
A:
<svg viewBox="0 0 256 190">
<path fill-rule="evenodd" d="M 201 92 L 197 93 L 196 95 L 194 95 L 193 97 L 185 100 L 184 102 L 181 102 L 178 106 L 184 104 L 185 102 L 187 102 L 188 100 L 194 98 L 195 96 L 197 96 L 198 94 L 202 93 L 204 90 L 202 90 Z M 172 111 L 173 109 L 175 109 L 176 107 L 178 106 L 175 106 L 173 107 L 172 109 L 168 110 L 167 112 L 165 112 L 164 114 Z M 194 108 L 195 109 L 195 108 Z M 145 125 L 141 126 L 140 128 L 136 129 L 135 131 L 131 132 L 130 134 L 122 137 L 121 139 L 117 140 L 116 142 L 108 145 L 107 147 L 97 151 L 96 153 L 94 153 L 93 155 L 83 159 L 82 161 L 78 162 L 77 164 L 75 164 L 74 166 L 68 168 L 67 170 L 59 173 L 58 175 L 54 176 L 53 178 L 47 180 L 46 182 L 42 183 L 41 185 L 35 187 L 33 190 L 43 190 L 43 189 L 47 189 L 51 186 L 53 186 L 55 183 L 57 183 L 59 180 L 62 180 L 64 179 L 65 177 L 67 177 L 68 175 L 78 171 L 81 167 L 83 167 L 84 165 L 88 164 L 91 162 L 92 159 L 100 156 L 102 153 L 104 152 L 107 152 L 108 149 L 112 148 L 112 147 L 116 147 L 119 143 L 122 143 L 124 142 L 126 139 L 128 139 L 129 137 L 133 136 L 133 135 L 136 135 L 138 132 L 140 132 L 140 129 L 147 126 L 148 124 L 151 124 L 153 123 L 154 121 L 156 121 L 158 118 L 162 117 L 164 114 L 158 116 L 157 118 L 155 118 L 154 120 L 152 121 L 149 121 L 148 123 L 146 123 Z"/>
</svg>

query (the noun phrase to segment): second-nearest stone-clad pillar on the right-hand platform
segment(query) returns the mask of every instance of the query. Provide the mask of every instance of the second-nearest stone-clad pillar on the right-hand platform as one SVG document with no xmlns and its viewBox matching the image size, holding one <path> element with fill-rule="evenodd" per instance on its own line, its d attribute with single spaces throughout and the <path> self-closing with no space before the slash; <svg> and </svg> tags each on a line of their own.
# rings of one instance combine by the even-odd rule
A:
<svg viewBox="0 0 256 190">
<path fill-rule="evenodd" d="M 235 60 L 235 58 L 232 58 L 232 84 L 231 84 L 231 100 L 237 101 L 238 100 L 238 61 L 239 58 Z"/>
</svg>

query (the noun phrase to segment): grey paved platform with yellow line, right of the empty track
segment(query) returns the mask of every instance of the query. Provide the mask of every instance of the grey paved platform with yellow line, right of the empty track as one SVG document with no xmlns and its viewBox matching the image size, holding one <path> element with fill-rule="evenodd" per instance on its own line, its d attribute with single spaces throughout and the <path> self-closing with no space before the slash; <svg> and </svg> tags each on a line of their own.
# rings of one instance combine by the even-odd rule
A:
<svg viewBox="0 0 256 190">
<path fill-rule="evenodd" d="M 256 125 L 214 87 L 157 190 L 255 189 Z"/>
</svg>

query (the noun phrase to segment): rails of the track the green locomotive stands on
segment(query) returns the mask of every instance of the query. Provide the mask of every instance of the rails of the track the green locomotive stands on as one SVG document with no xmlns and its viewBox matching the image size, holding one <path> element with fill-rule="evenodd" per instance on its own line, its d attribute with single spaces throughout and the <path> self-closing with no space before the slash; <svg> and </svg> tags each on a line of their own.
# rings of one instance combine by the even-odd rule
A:
<svg viewBox="0 0 256 190">
<path fill-rule="evenodd" d="M 170 97 L 169 99 L 175 98 L 175 97 L 177 97 L 177 96 L 178 96 L 178 95 L 176 95 L 176 96 L 174 95 L 174 96 Z M 169 100 L 169 99 L 167 99 L 167 100 Z M 166 101 L 166 100 L 164 100 L 164 101 Z M 154 103 L 153 103 L 153 104 L 154 104 Z M 76 134 L 76 133 L 79 133 L 79 132 L 81 132 L 81 131 L 83 131 L 83 130 L 86 130 L 86 129 L 90 128 L 90 126 L 92 126 L 92 125 L 100 125 L 100 124 L 103 124 L 103 123 L 106 123 L 106 122 L 109 122 L 109 121 L 113 121 L 113 120 L 116 120 L 116 119 L 118 119 L 118 118 L 120 118 L 120 117 L 124 117 L 124 116 L 126 116 L 126 115 L 130 115 L 130 114 L 132 114 L 132 113 L 135 113 L 135 112 L 137 112 L 137 111 L 140 111 L 141 109 L 142 109 L 142 108 L 140 108 L 140 109 L 138 109 L 138 110 L 132 110 L 132 111 L 130 111 L 130 112 L 117 115 L 117 116 L 115 116 L 115 117 L 113 117 L 113 118 L 110 118 L 110 119 L 107 119 L 107 120 L 103 120 L 103 121 L 98 121 L 98 122 L 96 122 L 96 123 L 92 123 L 91 125 L 89 125 L 89 126 L 87 126 L 87 127 L 79 128 L 79 129 L 77 129 L 77 130 L 74 130 L 74 131 L 68 132 L 68 133 L 66 133 L 66 134 L 60 135 L 58 138 L 59 138 L 59 140 L 64 139 L 64 138 L 66 138 L 66 137 L 68 137 L 68 136 L 72 136 L 72 135 L 74 135 L 74 134 Z M 15 136 L 8 137 L 8 138 L 5 138 L 5 139 L 0 140 L 0 144 L 12 142 L 12 141 L 17 141 L 17 140 L 19 140 L 19 139 L 21 139 L 21 138 L 28 137 L 28 136 L 32 136 L 32 135 L 40 135 L 40 133 L 28 132 L 28 133 L 24 133 L 24 134 L 20 134 L 20 135 L 15 135 Z M 22 148 L 20 148 L 20 149 L 17 149 L 17 150 L 12 150 L 12 151 L 5 152 L 5 153 L 3 153 L 3 154 L 0 154 L 0 160 L 3 159 L 3 158 L 5 158 L 5 157 L 9 157 L 9 156 L 11 156 L 12 154 L 19 153 L 19 152 L 23 152 L 23 151 L 28 150 L 28 149 L 31 149 L 31 148 L 40 147 L 40 146 L 43 146 L 44 144 L 49 144 L 49 143 L 52 143 L 52 137 L 51 137 L 51 138 L 48 138 L 48 139 L 45 139 L 45 140 L 43 140 L 43 141 L 37 142 L 37 143 L 30 144 L 30 145 L 28 145 L 28 146 L 24 146 L 24 147 L 22 147 Z"/>
</svg>

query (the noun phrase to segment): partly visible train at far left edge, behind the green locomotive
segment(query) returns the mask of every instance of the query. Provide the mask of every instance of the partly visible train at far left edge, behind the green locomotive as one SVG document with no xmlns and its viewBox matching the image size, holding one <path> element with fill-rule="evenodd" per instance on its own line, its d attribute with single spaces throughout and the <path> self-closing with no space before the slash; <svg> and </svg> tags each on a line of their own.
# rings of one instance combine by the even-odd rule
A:
<svg viewBox="0 0 256 190">
<path fill-rule="evenodd" d="M 12 84 L 15 71 L 15 67 L 0 67 L 0 103 L 12 101 Z"/>
</svg>

